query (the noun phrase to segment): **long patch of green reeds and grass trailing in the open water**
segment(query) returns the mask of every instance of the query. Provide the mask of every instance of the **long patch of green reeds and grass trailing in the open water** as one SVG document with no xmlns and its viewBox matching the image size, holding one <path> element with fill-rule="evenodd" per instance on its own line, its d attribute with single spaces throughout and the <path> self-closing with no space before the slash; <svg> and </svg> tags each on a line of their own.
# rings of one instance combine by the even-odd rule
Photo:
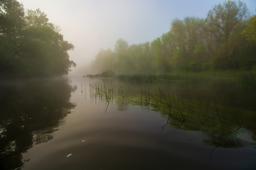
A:
<svg viewBox="0 0 256 170">
<path fill-rule="evenodd" d="M 127 88 L 132 91 L 131 85 Z M 90 83 L 90 96 L 92 100 L 105 101 L 106 106 L 113 102 L 114 89 L 111 82 L 111 87 L 107 87 L 105 83 L 95 82 Z M 156 85 L 155 94 L 150 94 L 149 88 L 141 90 L 140 94 L 127 95 L 119 83 L 118 98 L 122 99 L 122 104 L 128 103 L 140 105 L 144 110 L 154 110 L 163 116 L 168 116 L 167 124 L 182 128 L 184 130 L 201 130 L 205 132 L 212 132 L 217 136 L 222 136 L 233 133 L 240 128 L 238 120 L 234 117 L 232 112 L 223 104 L 210 104 L 204 94 L 202 94 L 205 101 L 194 100 L 183 101 L 171 88 L 167 88 L 167 93 Z M 228 110 L 228 112 L 227 112 Z M 186 123 L 184 124 L 184 122 Z"/>
</svg>

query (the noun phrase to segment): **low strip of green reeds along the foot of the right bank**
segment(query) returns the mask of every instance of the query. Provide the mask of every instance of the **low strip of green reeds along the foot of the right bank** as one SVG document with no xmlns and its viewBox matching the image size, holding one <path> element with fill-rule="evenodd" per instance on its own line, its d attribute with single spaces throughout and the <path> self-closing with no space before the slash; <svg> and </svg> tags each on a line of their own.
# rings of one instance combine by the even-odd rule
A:
<svg viewBox="0 0 256 170">
<path fill-rule="evenodd" d="M 114 78 L 121 81 L 130 82 L 161 82 L 161 81 L 222 81 L 228 82 L 232 85 L 239 85 L 242 87 L 256 89 L 256 72 L 236 72 L 236 73 L 223 73 L 223 72 L 204 72 L 204 73 L 169 73 L 169 74 L 119 74 L 114 72 L 102 72 L 101 74 L 88 74 L 83 77 L 94 78 Z"/>
</svg>

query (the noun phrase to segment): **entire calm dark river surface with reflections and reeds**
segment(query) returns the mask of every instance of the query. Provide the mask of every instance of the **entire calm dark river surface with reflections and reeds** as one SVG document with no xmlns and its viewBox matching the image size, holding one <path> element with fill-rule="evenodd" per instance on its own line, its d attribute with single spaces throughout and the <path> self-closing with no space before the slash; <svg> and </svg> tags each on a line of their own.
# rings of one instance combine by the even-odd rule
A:
<svg viewBox="0 0 256 170">
<path fill-rule="evenodd" d="M 0 169 L 256 169 L 255 90 L 81 77 L 0 86 Z"/>
</svg>

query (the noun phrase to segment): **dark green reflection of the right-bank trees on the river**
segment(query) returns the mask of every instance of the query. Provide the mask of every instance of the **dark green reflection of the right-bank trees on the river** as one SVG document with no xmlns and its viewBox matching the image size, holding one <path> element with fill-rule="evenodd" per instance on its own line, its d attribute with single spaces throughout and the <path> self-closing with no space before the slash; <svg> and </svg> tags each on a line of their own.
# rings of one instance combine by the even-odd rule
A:
<svg viewBox="0 0 256 170">
<path fill-rule="evenodd" d="M 166 117 L 166 125 L 186 131 L 201 131 L 208 139 L 203 143 L 213 147 L 240 148 L 255 146 L 256 121 L 255 91 L 239 87 L 227 88 L 221 84 L 196 82 L 118 82 L 99 81 L 100 88 L 113 89 L 111 101 L 119 111 L 137 105 L 142 111 L 155 111 Z M 120 89 L 122 93 L 120 95 Z M 249 92 L 248 92 L 249 90 Z M 104 90 L 103 90 L 104 91 Z M 246 95 L 246 94 L 250 95 Z M 102 93 L 101 102 L 106 102 Z M 232 99 L 231 99 L 232 98 Z M 94 96 L 94 101 L 97 96 Z M 109 106 L 109 100 L 106 102 Z M 238 137 L 245 129 L 251 132 L 250 140 Z M 172 133 L 170 132 L 170 133 Z M 157 133 L 157 134 L 159 134 Z"/>
</svg>

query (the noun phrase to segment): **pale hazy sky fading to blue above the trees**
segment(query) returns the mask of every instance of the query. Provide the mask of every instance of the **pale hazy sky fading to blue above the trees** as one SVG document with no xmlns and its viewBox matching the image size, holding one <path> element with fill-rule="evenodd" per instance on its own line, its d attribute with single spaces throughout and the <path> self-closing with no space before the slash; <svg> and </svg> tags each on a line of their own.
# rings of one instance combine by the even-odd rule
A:
<svg viewBox="0 0 256 170">
<path fill-rule="evenodd" d="M 77 67 L 92 61 L 98 51 L 114 49 L 123 38 L 132 44 L 152 42 L 186 16 L 205 18 L 223 0 L 18 0 L 25 10 L 40 8 L 49 22 L 59 25 L 64 39 L 76 47 L 69 52 Z M 245 0 L 255 14 L 256 0 Z"/>
</svg>

